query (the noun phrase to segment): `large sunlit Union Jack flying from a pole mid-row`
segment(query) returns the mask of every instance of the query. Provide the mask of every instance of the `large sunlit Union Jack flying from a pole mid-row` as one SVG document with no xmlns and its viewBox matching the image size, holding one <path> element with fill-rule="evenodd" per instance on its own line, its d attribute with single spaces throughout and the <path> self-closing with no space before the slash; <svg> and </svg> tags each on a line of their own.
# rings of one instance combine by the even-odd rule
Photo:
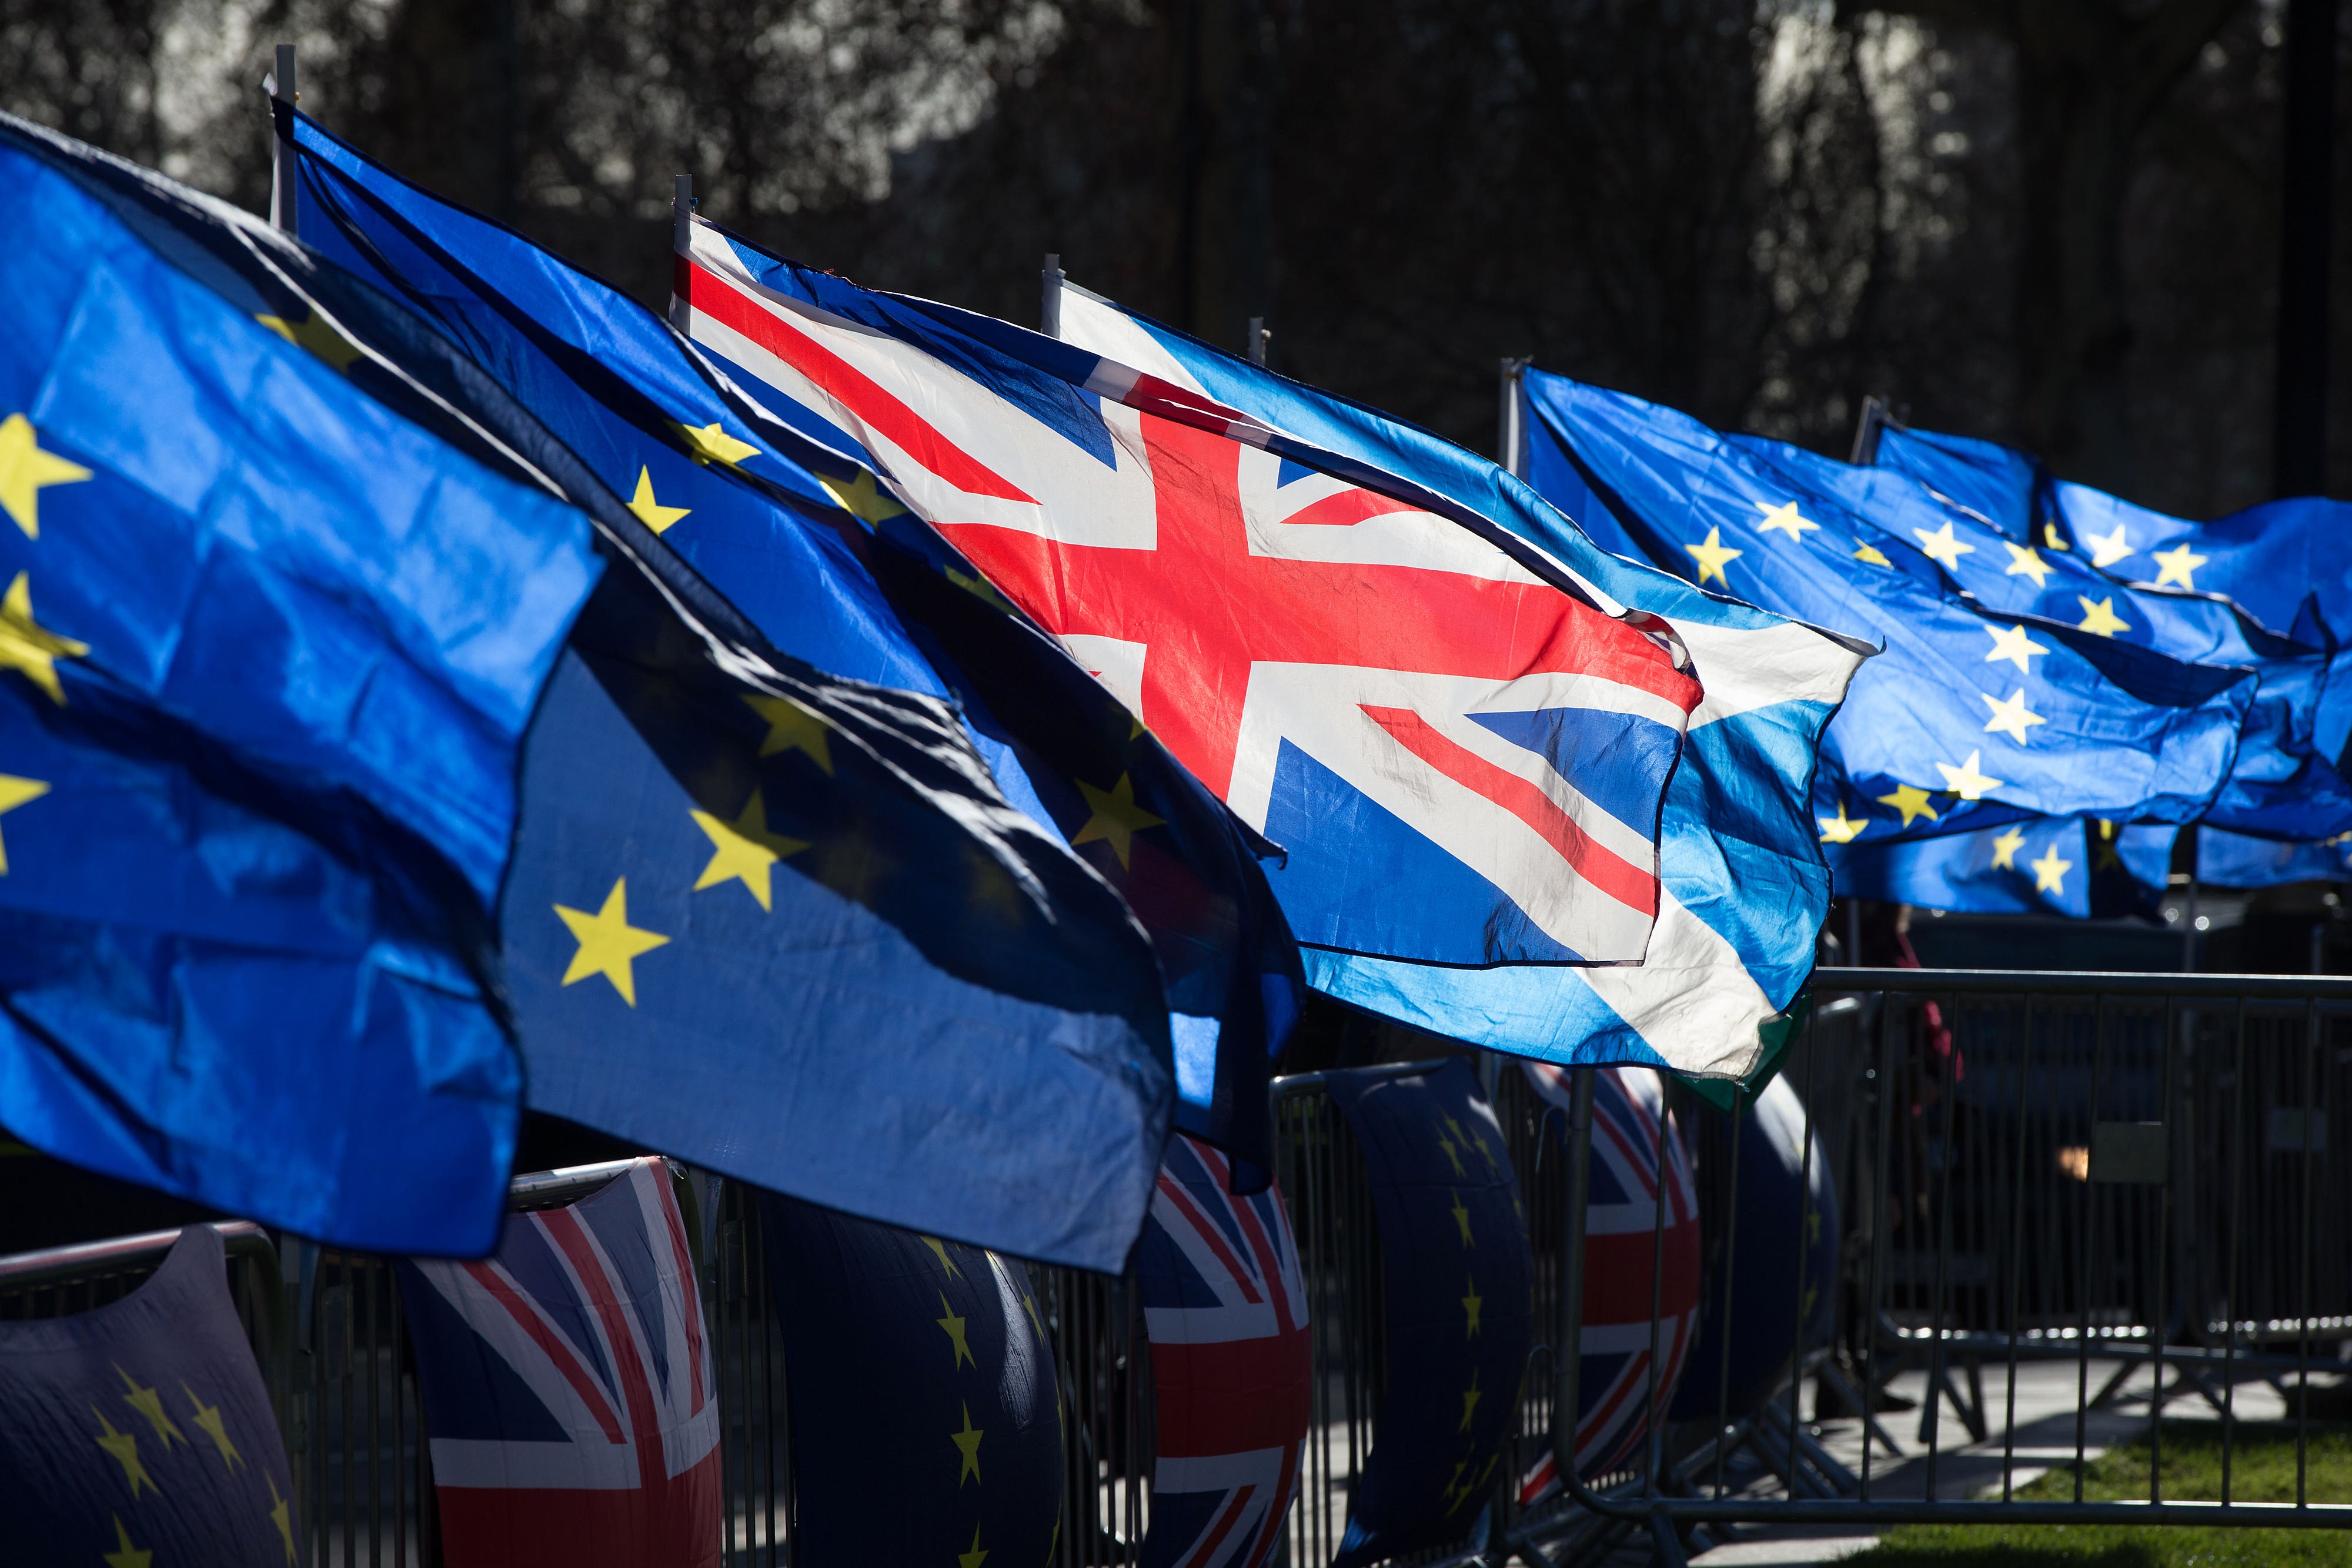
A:
<svg viewBox="0 0 2352 1568">
<path fill-rule="evenodd" d="M 1604 614 L 1444 498 L 1331 477 L 1160 376 L 1028 343 L 1070 360 L 1049 376 L 981 336 L 1002 322 L 922 315 L 699 219 L 675 289 L 699 346 L 887 475 L 1291 851 L 1270 882 L 1301 943 L 1642 959 L 1700 696 L 1663 621 Z"/>
</svg>

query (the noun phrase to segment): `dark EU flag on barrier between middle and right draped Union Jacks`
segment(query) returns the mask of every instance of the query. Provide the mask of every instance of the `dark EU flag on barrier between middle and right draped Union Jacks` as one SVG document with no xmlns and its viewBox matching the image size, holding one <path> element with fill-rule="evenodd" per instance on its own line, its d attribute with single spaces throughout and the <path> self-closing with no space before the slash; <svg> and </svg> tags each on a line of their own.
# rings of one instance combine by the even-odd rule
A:
<svg viewBox="0 0 2352 1568">
<path fill-rule="evenodd" d="M 1503 1474 L 1534 1333 L 1510 1150 L 1465 1058 L 1334 1072 L 1381 1222 L 1388 1359 L 1371 1455 L 1334 1568 L 1470 1535 Z"/>
</svg>

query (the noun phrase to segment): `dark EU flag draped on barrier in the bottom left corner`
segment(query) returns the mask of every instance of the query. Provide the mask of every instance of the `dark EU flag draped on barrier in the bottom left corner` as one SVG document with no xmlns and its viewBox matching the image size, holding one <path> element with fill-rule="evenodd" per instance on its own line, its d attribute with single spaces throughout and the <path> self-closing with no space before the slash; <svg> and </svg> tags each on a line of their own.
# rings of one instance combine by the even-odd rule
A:
<svg viewBox="0 0 2352 1568">
<path fill-rule="evenodd" d="M 0 1542 L 12 1563 L 252 1568 L 296 1561 L 278 1418 L 191 1225 L 129 1295 L 0 1324 Z"/>
</svg>

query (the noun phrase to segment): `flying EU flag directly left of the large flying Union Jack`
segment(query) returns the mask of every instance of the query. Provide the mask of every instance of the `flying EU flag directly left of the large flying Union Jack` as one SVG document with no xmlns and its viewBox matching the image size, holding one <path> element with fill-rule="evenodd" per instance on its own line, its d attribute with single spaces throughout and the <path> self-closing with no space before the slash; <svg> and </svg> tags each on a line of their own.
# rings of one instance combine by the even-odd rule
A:
<svg viewBox="0 0 2352 1568">
<path fill-rule="evenodd" d="M 313 120 L 280 106 L 280 129 L 303 153 L 303 235 L 430 315 L 762 635 L 821 670 L 960 703 L 1007 797 L 1152 936 L 1176 1124 L 1232 1150 L 1244 1190 L 1263 1185 L 1270 1060 L 1305 990 L 1258 867 L 1279 851 L 1056 644 L 957 588 L 976 574 L 875 487 L 863 449 L 811 442 L 644 306 Z"/>
</svg>

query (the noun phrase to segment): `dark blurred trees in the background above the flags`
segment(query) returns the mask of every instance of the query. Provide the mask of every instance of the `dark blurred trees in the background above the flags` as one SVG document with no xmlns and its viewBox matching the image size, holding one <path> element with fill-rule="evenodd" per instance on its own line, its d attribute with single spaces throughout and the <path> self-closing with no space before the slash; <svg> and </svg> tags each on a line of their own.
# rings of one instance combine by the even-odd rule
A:
<svg viewBox="0 0 2352 1568">
<path fill-rule="evenodd" d="M 1529 353 L 1837 454 L 1879 393 L 2209 517 L 2272 489 L 2284 9 L 0 0 L 0 103 L 259 207 L 294 40 L 303 108 L 654 303 L 691 172 L 868 284 L 1028 322 L 1058 252 L 1235 348 L 1263 315 L 1479 449 Z"/>
</svg>

